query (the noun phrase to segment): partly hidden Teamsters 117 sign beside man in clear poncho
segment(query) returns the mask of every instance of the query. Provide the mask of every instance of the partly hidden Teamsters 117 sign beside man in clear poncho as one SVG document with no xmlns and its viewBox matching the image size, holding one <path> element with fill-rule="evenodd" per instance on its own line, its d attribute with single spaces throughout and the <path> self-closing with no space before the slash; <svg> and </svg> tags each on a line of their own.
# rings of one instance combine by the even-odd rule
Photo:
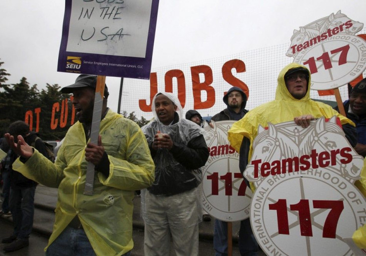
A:
<svg viewBox="0 0 366 256">
<path fill-rule="evenodd" d="M 235 121 L 211 121 L 205 127 L 210 156 L 202 168 L 203 209 L 216 219 L 233 222 L 249 217 L 252 191 L 239 170 L 239 153 L 229 145 L 227 132 Z"/>
</svg>

